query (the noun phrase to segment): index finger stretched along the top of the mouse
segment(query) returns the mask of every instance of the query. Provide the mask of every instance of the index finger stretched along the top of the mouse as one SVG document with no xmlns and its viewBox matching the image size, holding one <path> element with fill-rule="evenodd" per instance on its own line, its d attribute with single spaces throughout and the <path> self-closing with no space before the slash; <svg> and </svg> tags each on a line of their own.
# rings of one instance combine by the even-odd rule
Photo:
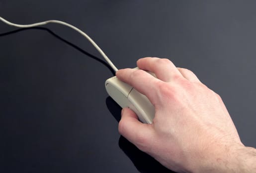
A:
<svg viewBox="0 0 256 173">
<path fill-rule="evenodd" d="M 140 69 L 121 69 L 116 72 L 116 77 L 146 95 L 153 105 L 158 101 L 157 83 L 159 79 Z"/>
</svg>

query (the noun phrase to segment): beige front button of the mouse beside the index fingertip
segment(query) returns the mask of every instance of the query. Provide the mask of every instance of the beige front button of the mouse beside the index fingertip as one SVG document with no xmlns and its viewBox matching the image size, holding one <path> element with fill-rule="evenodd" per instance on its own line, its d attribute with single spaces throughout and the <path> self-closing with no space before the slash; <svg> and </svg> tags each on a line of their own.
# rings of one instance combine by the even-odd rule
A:
<svg viewBox="0 0 256 173">
<path fill-rule="evenodd" d="M 126 97 L 128 97 L 128 94 L 132 90 L 132 87 L 122 81 L 120 81 L 116 76 L 109 78 L 105 82 L 106 89 L 109 87 L 109 84 L 116 89 L 118 89 L 120 92 L 122 92 Z"/>
</svg>

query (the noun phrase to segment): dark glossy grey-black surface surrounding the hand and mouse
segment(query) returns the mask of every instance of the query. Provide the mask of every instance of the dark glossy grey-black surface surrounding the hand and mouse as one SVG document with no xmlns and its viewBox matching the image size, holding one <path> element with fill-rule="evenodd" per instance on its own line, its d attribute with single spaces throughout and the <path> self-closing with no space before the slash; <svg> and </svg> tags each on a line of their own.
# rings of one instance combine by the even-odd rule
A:
<svg viewBox="0 0 256 173">
<path fill-rule="evenodd" d="M 252 147 L 255 9 L 255 0 L 0 0 L 0 16 L 14 23 L 77 26 L 117 68 L 157 56 L 192 70 L 222 96 Z M 0 172 L 167 172 L 120 137 L 120 108 L 104 87 L 112 73 L 86 55 L 103 59 L 95 48 L 65 26 L 45 27 L 0 22 Z"/>
</svg>

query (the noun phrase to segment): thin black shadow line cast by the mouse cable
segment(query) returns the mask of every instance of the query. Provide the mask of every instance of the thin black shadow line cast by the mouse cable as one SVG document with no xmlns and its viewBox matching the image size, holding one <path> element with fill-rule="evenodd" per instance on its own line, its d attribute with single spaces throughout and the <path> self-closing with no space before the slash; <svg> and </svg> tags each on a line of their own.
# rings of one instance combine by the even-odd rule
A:
<svg viewBox="0 0 256 173">
<path fill-rule="evenodd" d="M 82 48 L 80 48 L 79 46 L 73 44 L 73 43 L 70 43 L 69 41 L 63 39 L 62 37 L 58 36 L 57 34 L 55 34 L 53 31 L 51 31 L 50 29 L 48 28 L 44 28 L 44 27 L 33 27 L 33 28 L 21 28 L 21 29 L 17 29 L 17 30 L 14 30 L 14 31 L 10 31 L 10 32 L 7 32 L 7 33 L 1 33 L 0 34 L 0 37 L 3 37 L 3 36 L 7 36 L 7 35 L 11 35 L 11 34 L 15 34 L 15 33 L 18 33 L 18 32 L 21 32 L 21 31 L 25 31 L 25 30 L 43 30 L 43 31 L 47 31 L 48 33 L 50 33 L 51 35 L 53 35 L 55 38 L 57 38 L 58 40 L 64 42 L 64 43 L 67 43 L 68 45 L 74 47 L 75 49 L 79 50 L 80 52 L 84 53 L 85 55 L 89 56 L 90 58 L 100 62 L 101 64 L 103 64 L 104 66 L 106 66 L 110 71 L 111 73 L 113 74 L 113 76 L 115 76 L 115 71 L 111 68 L 111 66 L 106 63 L 105 61 L 103 61 L 102 59 L 99 59 L 98 57 L 86 52 L 85 50 L 83 50 Z"/>
</svg>

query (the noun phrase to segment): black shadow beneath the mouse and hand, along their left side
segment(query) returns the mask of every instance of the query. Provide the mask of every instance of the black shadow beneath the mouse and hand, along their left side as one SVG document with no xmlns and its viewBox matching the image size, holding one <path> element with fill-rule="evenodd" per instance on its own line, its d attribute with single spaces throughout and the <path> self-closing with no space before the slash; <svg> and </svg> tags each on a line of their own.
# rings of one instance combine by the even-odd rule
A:
<svg viewBox="0 0 256 173">
<path fill-rule="evenodd" d="M 109 112 L 117 122 L 121 119 L 121 107 L 111 98 L 106 98 L 106 105 Z M 141 173 L 175 173 L 161 165 L 153 157 L 139 150 L 134 144 L 123 136 L 119 138 L 119 147 L 130 158 L 136 169 Z"/>
</svg>

